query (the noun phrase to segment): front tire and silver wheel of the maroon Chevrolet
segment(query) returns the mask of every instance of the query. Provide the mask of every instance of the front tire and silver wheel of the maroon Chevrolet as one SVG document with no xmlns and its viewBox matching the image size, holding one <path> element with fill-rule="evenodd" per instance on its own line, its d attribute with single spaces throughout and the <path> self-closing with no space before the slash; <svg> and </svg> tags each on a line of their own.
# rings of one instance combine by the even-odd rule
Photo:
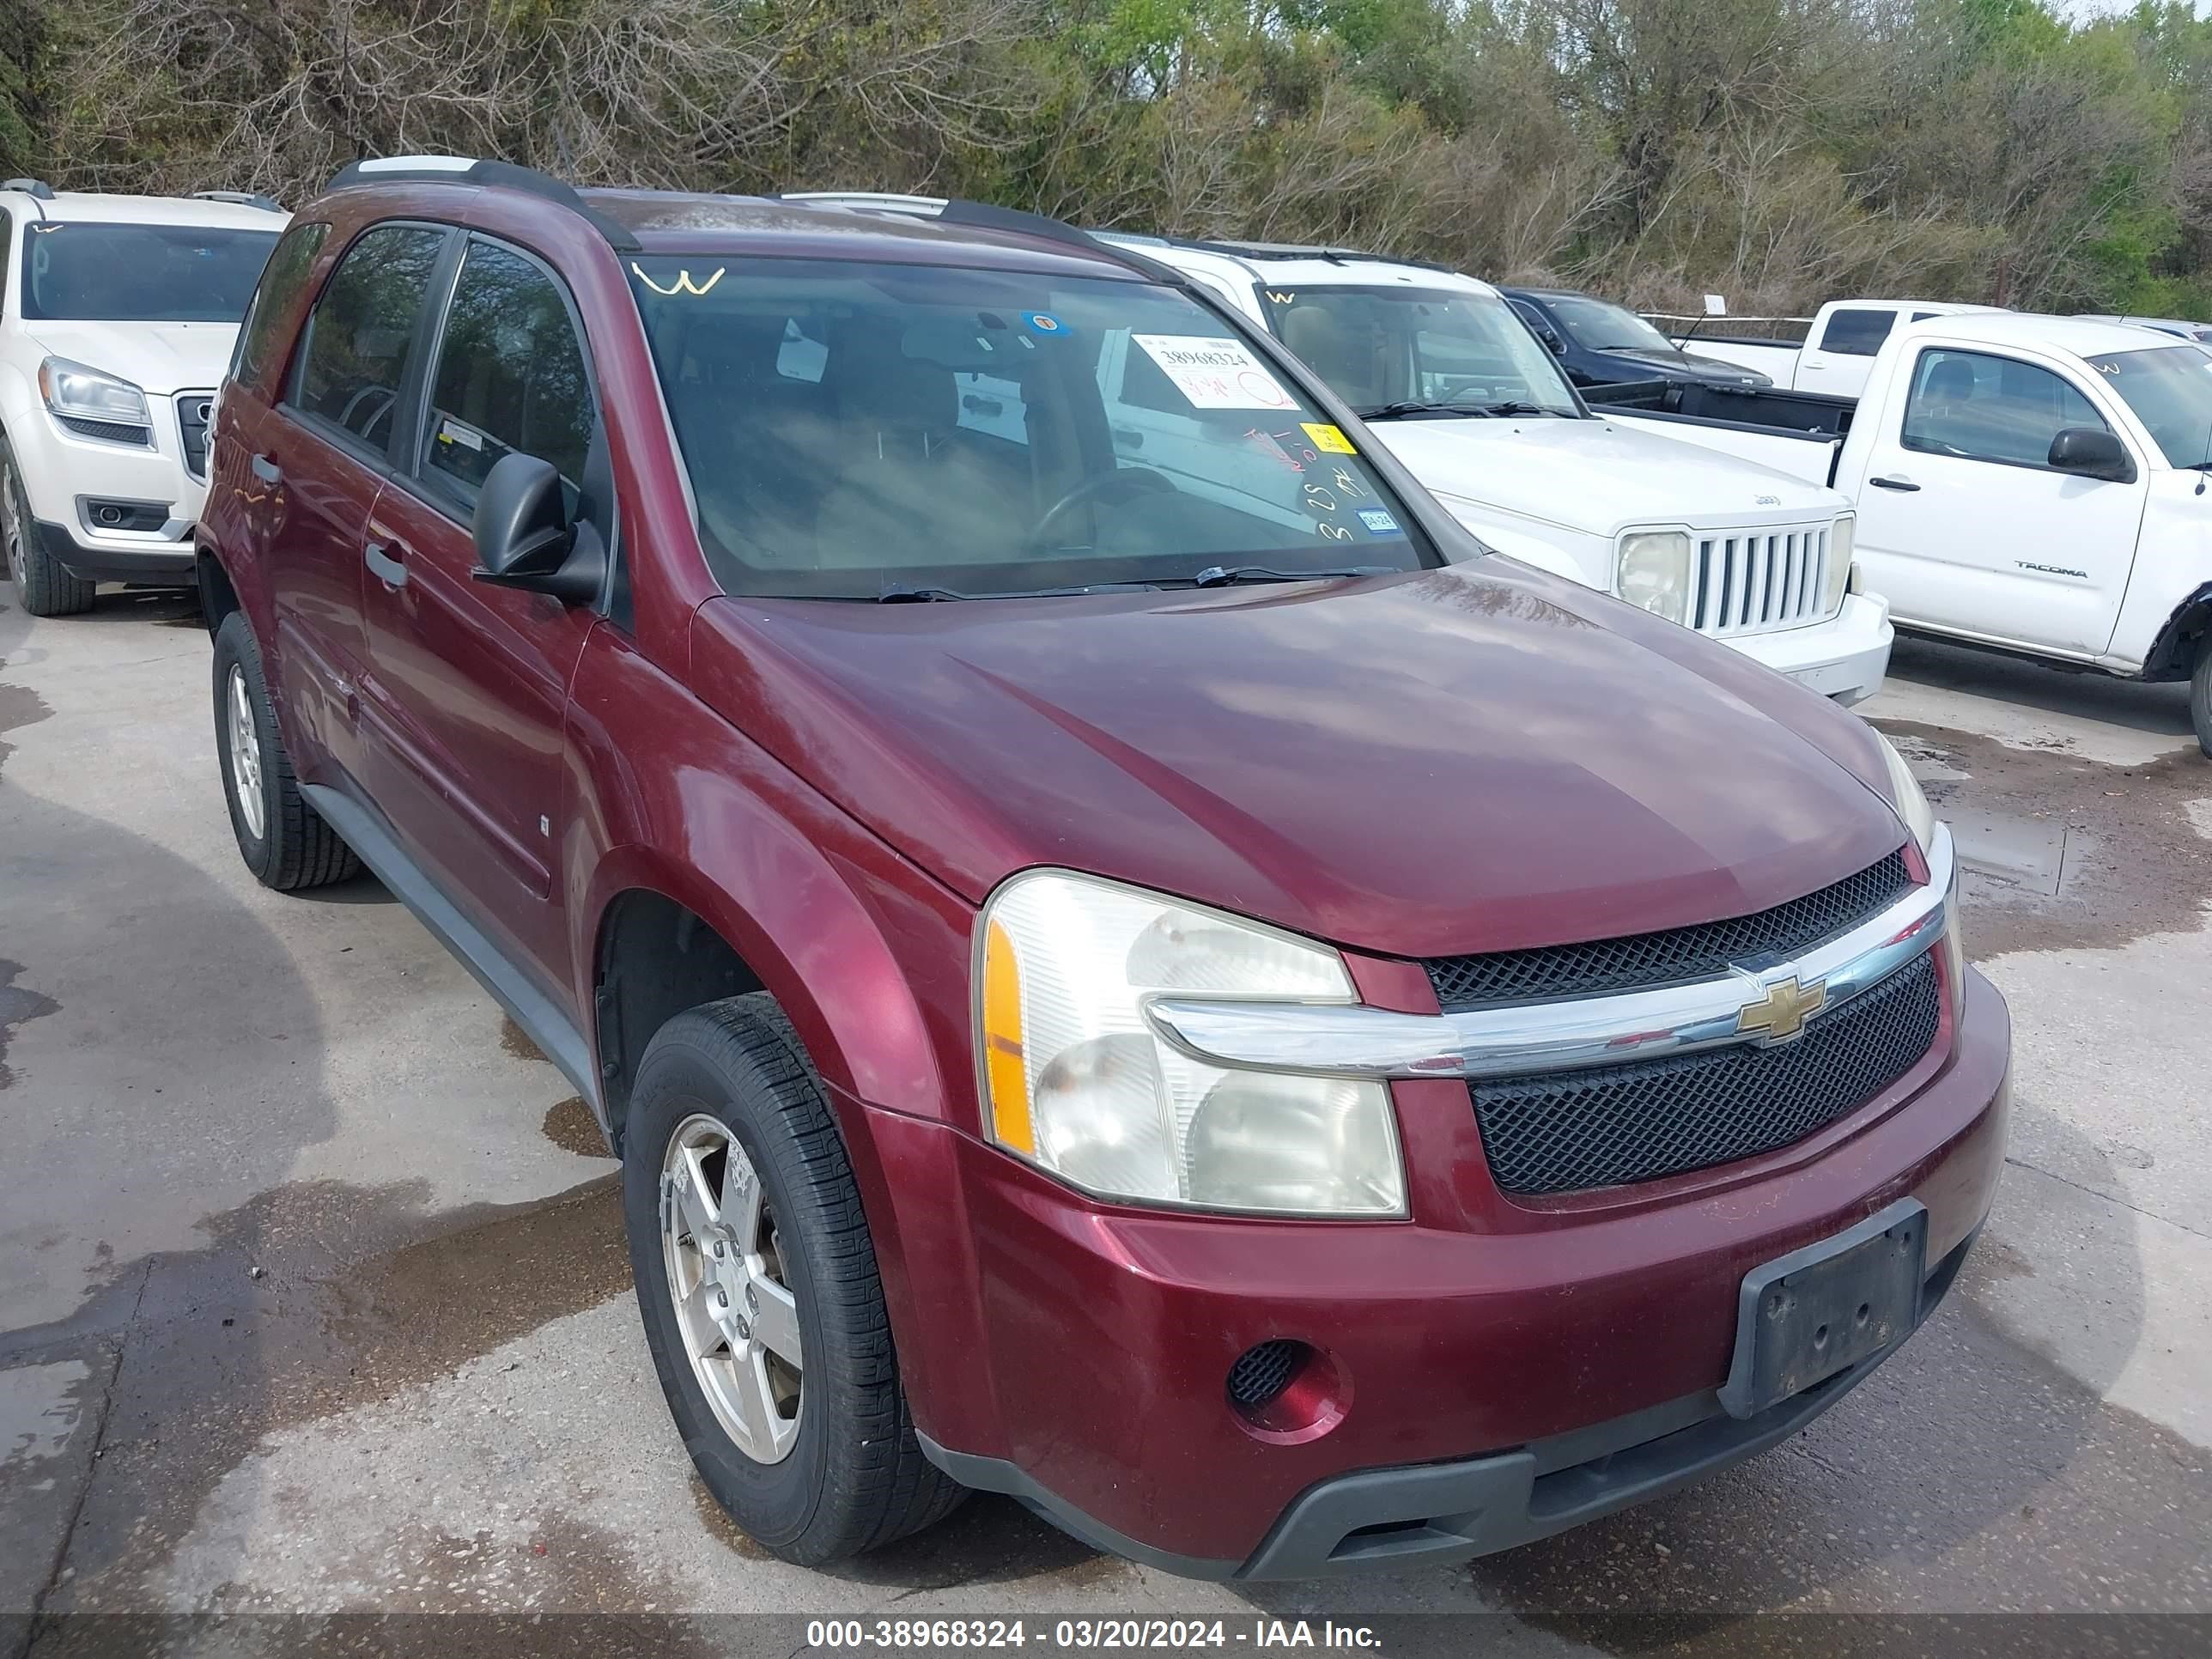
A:
<svg viewBox="0 0 2212 1659">
<path fill-rule="evenodd" d="M 772 998 L 655 1033 L 622 1199 L 653 1369 L 741 1528 L 818 1566 L 960 1504 L 914 1433 L 852 1164 Z"/>
</svg>

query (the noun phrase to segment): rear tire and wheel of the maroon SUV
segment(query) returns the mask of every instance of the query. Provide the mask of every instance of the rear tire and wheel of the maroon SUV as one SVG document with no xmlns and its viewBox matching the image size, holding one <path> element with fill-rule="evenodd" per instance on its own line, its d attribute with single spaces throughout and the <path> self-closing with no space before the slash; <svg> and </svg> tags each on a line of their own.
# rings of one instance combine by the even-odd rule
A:
<svg viewBox="0 0 2212 1659">
<path fill-rule="evenodd" d="M 296 894 L 361 874 L 354 849 L 307 805 L 292 776 L 261 677 L 261 648 L 243 611 L 232 611 L 215 630 L 215 754 L 230 832 L 254 880 Z"/>
</svg>

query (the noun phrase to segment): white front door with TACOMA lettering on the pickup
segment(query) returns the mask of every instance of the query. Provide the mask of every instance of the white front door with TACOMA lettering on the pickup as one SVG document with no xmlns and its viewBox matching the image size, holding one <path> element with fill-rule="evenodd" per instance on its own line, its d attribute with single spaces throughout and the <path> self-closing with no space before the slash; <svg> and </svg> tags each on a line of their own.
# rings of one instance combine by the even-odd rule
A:
<svg viewBox="0 0 2212 1659">
<path fill-rule="evenodd" d="M 2110 644 L 2146 462 L 2121 434 L 2132 482 L 2057 471 L 2046 456 L 2066 427 L 2115 429 L 2042 363 L 1922 347 L 1858 491 L 1858 562 L 1898 622 L 2077 657 Z"/>
</svg>

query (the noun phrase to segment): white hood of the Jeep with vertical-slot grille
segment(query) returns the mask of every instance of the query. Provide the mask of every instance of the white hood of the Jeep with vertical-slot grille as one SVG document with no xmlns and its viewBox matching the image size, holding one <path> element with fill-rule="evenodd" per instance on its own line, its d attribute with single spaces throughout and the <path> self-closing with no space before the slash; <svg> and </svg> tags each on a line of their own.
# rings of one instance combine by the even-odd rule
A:
<svg viewBox="0 0 2212 1659">
<path fill-rule="evenodd" d="M 1615 420 L 1385 420 L 1369 427 L 1436 495 L 1613 538 L 1834 515 L 1823 484 Z"/>
</svg>

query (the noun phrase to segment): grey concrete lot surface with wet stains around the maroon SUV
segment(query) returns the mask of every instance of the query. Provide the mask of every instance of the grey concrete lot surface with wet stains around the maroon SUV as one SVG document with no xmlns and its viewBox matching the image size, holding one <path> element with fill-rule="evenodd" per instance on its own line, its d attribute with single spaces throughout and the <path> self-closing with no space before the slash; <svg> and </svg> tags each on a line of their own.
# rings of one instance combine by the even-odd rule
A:
<svg viewBox="0 0 2212 1659">
<path fill-rule="evenodd" d="M 1927 1632 L 1756 1610 L 2212 1615 L 2212 761 L 2174 686 L 1911 644 L 1893 675 L 1865 712 L 1960 823 L 1969 947 L 2017 1035 L 1958 1294 L 1807 1433 L 1672 1500 L 1451 1571 L 1225 1588 L 998 1498 L 834 1573 L 734 1533 L 661 1409 L 568 1086 L 378 885 L 283 898 L 239 865 L 188 606 L 0 613 L 0 1655 L 310 1628 L 86 1617 L 164 1613 L 1141 1613 L 1228 1617 L 1230 1646 L 1263 1617 L 1489 1613 L 1482 1650 L 1531 1655 Z M 469 1628 L 500 1626 L 420 1630 Z M 529 1630 L 805 1641 L 803 1617 Z M 2212 1644 L 2212 1619 L 1947 1630 Z"/>
</svg>

